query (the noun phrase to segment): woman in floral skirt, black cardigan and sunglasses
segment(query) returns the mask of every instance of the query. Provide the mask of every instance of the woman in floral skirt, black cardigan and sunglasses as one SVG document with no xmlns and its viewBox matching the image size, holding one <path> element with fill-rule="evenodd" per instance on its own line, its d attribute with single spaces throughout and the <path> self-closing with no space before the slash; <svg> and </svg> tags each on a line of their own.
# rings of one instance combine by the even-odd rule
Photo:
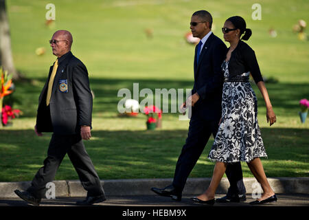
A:
<svg viewBox="0 0 309 220">
<path fill-rule="evenodd" d="M 198 197 L 196 203 L 214 204 L 214 195 L 225 173 L 227 163 L 247 162 L 251 173 L 261 184 L 263 193 L 260 199 L 251 204 L 277 201 L 275 192 L 269 185 L 260 157 L 267 157 L 258 124 L 258 100 L 249 83 L 253 76 L 266 104 L 266 118 L 270 125 L 276 122 L 268 92 L 263 82 L 255 53 L 240 40 L 248 40 L 252 32 L 246 28 L 242 17 L 231 17 L 222 28 L 225 41 L 230 43 L 227 57 L 222 63 L 225 83 L 222 93 L 222 118 L 209 159 L 216 162 L 209 188 Z"/>
</svg>

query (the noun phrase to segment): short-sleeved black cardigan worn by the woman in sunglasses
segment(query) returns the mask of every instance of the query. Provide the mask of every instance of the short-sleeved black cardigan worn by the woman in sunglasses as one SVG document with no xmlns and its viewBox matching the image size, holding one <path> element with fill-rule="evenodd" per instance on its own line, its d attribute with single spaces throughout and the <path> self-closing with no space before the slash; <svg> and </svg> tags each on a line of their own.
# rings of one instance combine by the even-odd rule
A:
<svg viewBox="0 0 309 220">
<path fill-rule="evenodd" d="M 255 52 L 249 47 L 249 45 L 247 45 L 247 43 L 239 41 L 229 59 L 229 77 L 247 72 L 251 72 L 255 83 L 263 81 Z"/>
</svg>

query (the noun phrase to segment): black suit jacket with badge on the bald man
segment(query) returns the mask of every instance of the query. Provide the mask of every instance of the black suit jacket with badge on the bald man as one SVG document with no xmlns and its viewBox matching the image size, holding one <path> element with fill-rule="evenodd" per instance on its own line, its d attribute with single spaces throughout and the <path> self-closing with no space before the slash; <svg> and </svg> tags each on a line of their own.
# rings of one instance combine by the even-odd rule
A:
<svg viewBox="0 0 309 220">
<path fill-rule="evenodd" d="M 92 95 L 87 68 L 71 52 L 58 59 L 58 69 L 49 107 L 47 87 L 53 66 L 38 98 L 36 129 L 60 135 L 79 134 L 80 126 L 91 126 Z"/>
</svg>

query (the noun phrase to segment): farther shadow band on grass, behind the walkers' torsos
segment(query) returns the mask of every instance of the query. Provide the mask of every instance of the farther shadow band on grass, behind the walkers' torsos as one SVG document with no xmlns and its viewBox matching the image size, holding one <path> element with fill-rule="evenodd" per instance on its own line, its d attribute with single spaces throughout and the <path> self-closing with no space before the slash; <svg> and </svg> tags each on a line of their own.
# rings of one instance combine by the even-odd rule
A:
<svg viewBox="0 0 309 220">
<path fill-rule="evenodd" d="M 14 97 L 19 100 L 19 108 L 24 112 L 23 117 L 35 117 L 38 105 L 38 96 L 45 83 L 46 78 L 36 78 L 36 83 L 16 83 Z M 123 97 L 117 97 L 119 89 L 127 88 L 131 91 L 133 98 L 133 83 L 139 83 L 139 91 L 144 88 L 152 89 L 190 89 L 193 86 L 193 80 L 158 80 L 158 79 L 131 79 L 131 78 L 91 78 L 91 89 L 95 94 L 93 100 L 93 113 L 117 112 L 117 103 Z M 281 109 L 286 114 L 294 114 L 299 111 L 299 100 L 309 96 L 308 83 L 277 83 L 266 84 L 268 93 L 274 109 Z M 264 106 L 264 100 L 260 91 L 253 84 L 258 96 L 259 106 Z M 139 101 L 144 97 L 139 98 Z M 170 96 L 169 96 L 170 99 Z M 155 103 L 155 102 L 154 102 Z"/>
</svg>

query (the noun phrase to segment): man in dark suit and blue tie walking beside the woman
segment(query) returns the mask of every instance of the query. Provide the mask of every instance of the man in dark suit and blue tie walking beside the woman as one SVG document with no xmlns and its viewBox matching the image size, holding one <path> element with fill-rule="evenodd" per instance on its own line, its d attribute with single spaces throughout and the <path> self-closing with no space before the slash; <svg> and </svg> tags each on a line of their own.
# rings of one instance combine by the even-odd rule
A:
<svg viewBox="0 0 309 220">
<path fill-rule="evenodd" d="M 179 155 L 172 185 L 165 188 L 151 188 L 158 195 L 181 200 L 183 188 L 198 158 L 201 156 L 211 133 L 216 136 L 221 117 L 223 74 L 222 62 L 227 47 L 211 32 L 212 17 L 205 10 L 192 14 L 190 29 L 194 37 L 201 39 L 196 45 L 194 56 L 194 87 L 192 96 L 182 107 L 192 107 L 187 140 Z M 240 163 L 227 166 L 227 177 L 231 187 L 222 202 L 240 201 L 245 198 Z"/>
</svg>

